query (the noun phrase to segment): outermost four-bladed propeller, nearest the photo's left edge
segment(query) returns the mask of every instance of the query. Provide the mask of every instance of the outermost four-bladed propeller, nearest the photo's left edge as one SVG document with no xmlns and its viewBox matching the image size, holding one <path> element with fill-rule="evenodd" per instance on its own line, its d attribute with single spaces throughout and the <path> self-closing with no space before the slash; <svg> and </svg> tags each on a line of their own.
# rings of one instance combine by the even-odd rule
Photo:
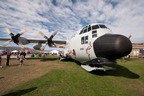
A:
<svg viewBox="0 0 144 96">
<path fill-rule="evenodd" d="M 18 34 L 14 35 L 9 28 L 5 28 L 5 32 L 7 32 L 10 36 L 11 39 L 6 41 L 2 47 L 6 47 L 11 41 L 13 41 L 15 44 L 19 45 L 21 48 L 24 48 L 24 45 L 22 42 L 19 42 L 19 37 L 26 32 L 26 29 L 22 29 Z"/>
</svg>

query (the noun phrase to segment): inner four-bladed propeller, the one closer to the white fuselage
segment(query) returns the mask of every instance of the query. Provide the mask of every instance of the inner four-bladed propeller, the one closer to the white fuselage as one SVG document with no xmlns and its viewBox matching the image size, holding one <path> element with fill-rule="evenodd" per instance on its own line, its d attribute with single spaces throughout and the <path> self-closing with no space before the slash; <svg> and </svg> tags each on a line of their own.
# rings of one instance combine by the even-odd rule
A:
<svg viewBox="0 0 144 96">
<path fill-rule="evenodd" d="M 58 30 L 55 30 L 49 38 L 42 32 L 38 32 L 39 35 L 41 35 L 42 37 L 44 37 L 47 40 L 45 42 L 45 44 L 40 48 L 41 50 L 44 50 L 44 48 L 46 47 L 47 44 L 49 45 L 49 47 L 57 47 L 56 44 L 52 41 L 53 37 L 57 34 L 57 32 L 58 32 Z"/>
</svg>

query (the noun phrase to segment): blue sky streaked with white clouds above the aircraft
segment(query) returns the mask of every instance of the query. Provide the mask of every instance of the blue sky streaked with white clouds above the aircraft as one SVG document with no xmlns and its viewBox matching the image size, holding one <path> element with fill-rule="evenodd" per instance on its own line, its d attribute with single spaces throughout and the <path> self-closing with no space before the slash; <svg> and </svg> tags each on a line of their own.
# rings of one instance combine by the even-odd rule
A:
<svg viewBox="0 0 144 96">
<path fill-rule="evenodd" d="M 43 39 L 39 31 L 50 36 L 57 29 L 54 39 L 66 40 L 90 23 L 144 43 L 144 0 L 0 0 L 0 37 L 9 37 L 5 26 L 14 34 L 25 26 L 23 37 Z"/>
</svg>

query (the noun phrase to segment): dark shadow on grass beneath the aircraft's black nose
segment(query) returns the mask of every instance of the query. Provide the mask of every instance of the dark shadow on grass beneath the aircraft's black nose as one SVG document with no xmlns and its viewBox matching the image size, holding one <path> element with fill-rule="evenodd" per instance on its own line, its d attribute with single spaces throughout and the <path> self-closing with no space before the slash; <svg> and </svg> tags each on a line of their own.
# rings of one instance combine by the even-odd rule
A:
<svg viewBox="0 0 144 96">
<path fill-rule="evenodd" d="M 92 74 L 99 75 L 99 76 L 120 76 L 120 77 L 126 77 L 130 79 L 137 79 L 140 76 L 132 71 L 130 71 L 128 68 L 125 68 L 121 65 L 114 64 L 111 67 L 116 68 L 113 71 L 92 71 Z"/>
</svg>

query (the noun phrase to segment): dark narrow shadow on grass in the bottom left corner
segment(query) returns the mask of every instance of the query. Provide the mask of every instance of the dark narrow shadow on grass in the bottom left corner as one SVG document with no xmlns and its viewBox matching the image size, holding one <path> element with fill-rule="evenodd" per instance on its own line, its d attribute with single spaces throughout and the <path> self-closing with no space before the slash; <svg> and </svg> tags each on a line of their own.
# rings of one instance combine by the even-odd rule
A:
<svg viewBox="0 0 144 96">
<path fill-rule="evenodd" d="M 32 87 L 32 88 L 23 89 L 23 90 L 17 90 L 16 92 L 11 92 L 11 93 L 8 93 L 8 94 L 2 95 L 2 96 L 22 96 L 22 95 L 32 92 L 36 89 L 37 89 L 37 87 Z"/>
</svg>

